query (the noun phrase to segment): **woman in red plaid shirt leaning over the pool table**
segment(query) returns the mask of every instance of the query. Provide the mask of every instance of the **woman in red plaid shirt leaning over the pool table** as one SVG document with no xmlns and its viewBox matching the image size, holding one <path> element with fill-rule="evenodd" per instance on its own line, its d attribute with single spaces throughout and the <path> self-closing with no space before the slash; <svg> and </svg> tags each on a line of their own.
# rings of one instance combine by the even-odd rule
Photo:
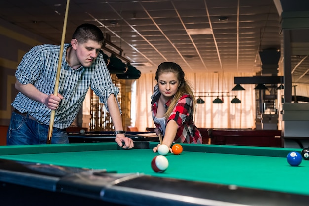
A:
<svg viewBox="0 0 309 206">
<path fill-rule="evenodd" d="M 155 133 L 163 134 L 162 144 L 173 142 L 201 144 L 202 136 L 193 122 L 196 100 L 185 80 L 185 73 L 174 62 L 163 62 L 155 73 L 157 85 L 152 95 Z M 158 147 L 153 149 L 157 152 Z"/>
</svg>

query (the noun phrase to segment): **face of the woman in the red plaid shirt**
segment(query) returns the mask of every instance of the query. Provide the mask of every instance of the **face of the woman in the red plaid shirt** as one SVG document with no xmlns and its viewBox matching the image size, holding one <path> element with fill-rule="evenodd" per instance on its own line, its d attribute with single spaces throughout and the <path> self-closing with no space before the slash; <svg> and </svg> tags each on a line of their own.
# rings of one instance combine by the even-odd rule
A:
<svg viewBox="0 0 309 206">
<path fill-rule="evenodd" d="M 170 98 L 175 95 L 179 85 L 177 75 L 173 72 L 161 73 L 158 76 L 159 91 L 164 97 Z"/>
</svg>

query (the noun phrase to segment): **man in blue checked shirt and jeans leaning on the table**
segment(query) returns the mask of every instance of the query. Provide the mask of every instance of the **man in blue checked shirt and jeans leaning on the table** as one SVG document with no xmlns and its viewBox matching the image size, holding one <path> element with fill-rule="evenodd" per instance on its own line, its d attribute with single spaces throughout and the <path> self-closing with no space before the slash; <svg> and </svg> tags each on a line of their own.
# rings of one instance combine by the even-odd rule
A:
<svg viewBox="0 0 309 206">
<path fill-rule="evenodd" d="M 25 54 L 17 67 L 15 88 L 20 92 L 12 103 L 7 145 L 45 144 L 51 110 L 55 120 L 51 143 L 69 143 L 66 128 L 71 125 L 89 89 L 106 105 L 115 128 L 115 141 L 124 149 L 133 147 L 125 137 L 119 93 L 99 51 L 104 36 L 95 25 L 82 24 L 71 44 L 64 45 L 58 95 L 53 95 L 60 46 L 39 45 Z"/>
</svg>

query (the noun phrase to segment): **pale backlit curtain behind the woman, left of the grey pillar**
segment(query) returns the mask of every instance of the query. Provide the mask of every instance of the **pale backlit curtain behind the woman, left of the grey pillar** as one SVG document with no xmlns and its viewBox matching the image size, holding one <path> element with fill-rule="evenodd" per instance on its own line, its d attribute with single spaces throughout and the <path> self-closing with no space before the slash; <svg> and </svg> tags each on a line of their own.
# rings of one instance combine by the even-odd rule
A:
<svg viewBox="0 0 309 206">
<path fill-rule="evenodd" d="M 245 91 L 231 91 L 235 86 L 234 77 L 254 76 L 254 73 L 186 73 L 186 79 L 205 103 L 197 104 L 194 122 L 198 128 L 255 128 L 254 84 L 241 85 Z M 142 74 L 136 85 L 136 121 L 139 131 L 153 128 L 151 95 L 155 74 Z M 219 96 L 222 104 L 212 103 Z M 231 103 L 237 96 L 241 103 Z"/>
</svg>

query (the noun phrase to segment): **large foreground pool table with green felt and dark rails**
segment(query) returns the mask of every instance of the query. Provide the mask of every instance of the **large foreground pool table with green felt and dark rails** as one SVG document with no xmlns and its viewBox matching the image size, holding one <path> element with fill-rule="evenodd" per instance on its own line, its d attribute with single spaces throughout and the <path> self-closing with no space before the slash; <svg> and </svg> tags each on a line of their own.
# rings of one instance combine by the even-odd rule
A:
<svg viewBox="0 0 309 206">
<path fill-rule="evenodd" d="M 308 205 L 309 161 L 290 166 L 288 148 L 182 144 L 156 173 L 144 143 L 0 146 L 0 205 Z"/>
</svg>

